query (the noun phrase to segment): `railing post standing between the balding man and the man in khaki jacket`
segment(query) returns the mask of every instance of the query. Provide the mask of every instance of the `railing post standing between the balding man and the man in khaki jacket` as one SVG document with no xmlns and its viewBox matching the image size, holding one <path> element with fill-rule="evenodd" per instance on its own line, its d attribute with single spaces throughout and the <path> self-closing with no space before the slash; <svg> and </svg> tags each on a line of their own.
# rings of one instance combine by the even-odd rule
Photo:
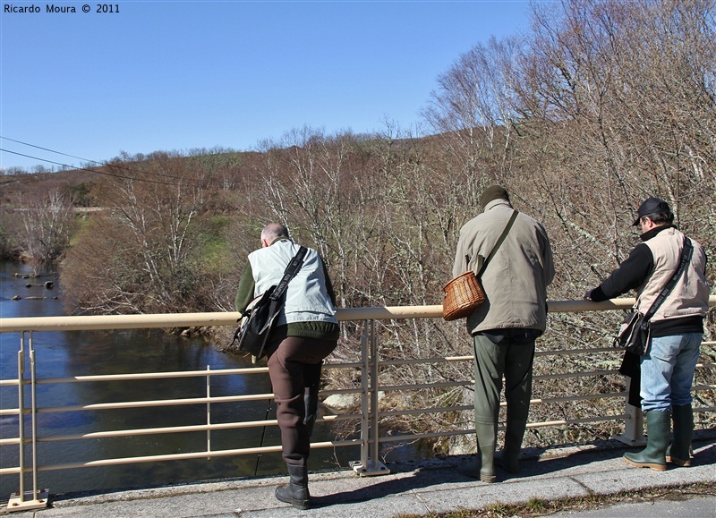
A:
<svg viewBox="0 0 716 518">
<path fill-rule="evenodd" d="M 378 341 L 375 320 L 363 323 L 361 357 L 361 460 L 349 464 L 361 476 L 387 475 L 390 470 L 378 460 Z"/>
</svg>

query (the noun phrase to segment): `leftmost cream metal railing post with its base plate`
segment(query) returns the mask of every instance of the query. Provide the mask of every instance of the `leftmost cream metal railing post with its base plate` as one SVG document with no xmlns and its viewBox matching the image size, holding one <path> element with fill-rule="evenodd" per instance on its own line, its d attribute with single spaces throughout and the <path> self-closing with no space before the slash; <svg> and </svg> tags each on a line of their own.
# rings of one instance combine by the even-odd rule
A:
<svg viewBox="0 0 716 518">
<path fill-rule="evenodd" d="M 37 378 L 35 366 L 35 350 L 32 348 L 32 331 L 29 341 L 30 357 L 30 455 L 32 457 L 32 490 L 25 491 L 25 331 L 20 335 L 20 351 L 17 357 L 18 378 L 18 435 L 20 436 L 20 490 L 13 493 L 7 501 L 7 510 L 28 511 L 30 509 L 44 509 L 47 507 L 48 489 L 38 489 L 38 403 Z"/>
</svg>

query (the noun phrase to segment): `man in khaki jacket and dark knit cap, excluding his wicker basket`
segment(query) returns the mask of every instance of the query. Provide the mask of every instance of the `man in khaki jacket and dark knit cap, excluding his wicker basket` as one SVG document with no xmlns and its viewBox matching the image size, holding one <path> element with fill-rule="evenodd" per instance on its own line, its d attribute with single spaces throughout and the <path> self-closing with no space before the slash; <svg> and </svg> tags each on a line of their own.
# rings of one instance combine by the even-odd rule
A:
<svg viewBox="0 0 716 518">
<path fill-rule="evenodd" d="M 453 276 L 468 269 L 478 273 L 516 212 L 507 191 L 492 185 L 482 192 L 483 212 L 460 230 Z M 467 318 L 475 354 L 475 430 L 479 456 L 458 466 L 484 482 L 496 480 L 494 463 L 508 472 L 519 470 L 532 396 L 534 341 L 547 325 L 547 286 L 554 278 L 550 240 L 544 227 L 517 213 L 504 241 L 482 273 L 487 301 Z M 501 455 L 495 458 L 499 395 L 505 377 L 507 431 Z"/>
</svg>

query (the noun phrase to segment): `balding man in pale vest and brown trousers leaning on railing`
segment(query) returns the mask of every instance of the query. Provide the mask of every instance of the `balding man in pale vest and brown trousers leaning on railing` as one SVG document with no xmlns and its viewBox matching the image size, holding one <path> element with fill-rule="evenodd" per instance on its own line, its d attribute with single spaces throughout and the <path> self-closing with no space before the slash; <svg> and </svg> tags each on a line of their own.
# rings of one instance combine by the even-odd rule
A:
<svg viewBox="0 0 716 518">
<path fill-rule="evenodd" d="M 261 232 L 261 248 L 249 254 L 236 293 L 236 310 L 272 285 L 281 282 L 286 266 L 299 250 L 284 225 L 270 223 Z M 282 502 L 307 509 L 307 461 L 311 432 L 318 412 L 320 368 L 336 349 L 340 330 L 336 295 L 328 270 L 317 251 L 309 248 L 303 266 L 286 289 L 286 302 L 277 326 L 268 337 L 268 375 L 276 396 L 276 417 L 290 483 L 276 490 Z"/>
</svg>

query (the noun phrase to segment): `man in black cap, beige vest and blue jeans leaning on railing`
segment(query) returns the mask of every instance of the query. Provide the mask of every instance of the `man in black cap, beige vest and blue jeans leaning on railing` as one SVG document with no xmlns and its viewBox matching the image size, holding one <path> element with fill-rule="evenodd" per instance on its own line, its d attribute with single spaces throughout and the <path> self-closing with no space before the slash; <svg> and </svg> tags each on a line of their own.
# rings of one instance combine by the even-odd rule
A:
<svg viewBox="0 0 716 518">
<path fill-rule="evenodd" d="M 584 298 L 599 302 L 629 290 L 637 293 L 637 310 L 644 314 L 678 267 L 686 236 L 673 225 L 669 204 L 649 198 L 639 207 L 634 225 L 642 227 L 642 243 L 599 286 Z M 667 461 L 691 465 L 694 430 L 691 386 L 703 336 L 703 317 L 709 304 L 706 255 L 698 242 L 691 260 L 669 296 L 654 313 L 652 341 L 641 357 L 642 410 L 646 413 L 648 441 L 639 453 L 626 453 L 626 463 L 666 470 Z M 671 419 L 674 440 L 669 446 Z"/>
</svg>

